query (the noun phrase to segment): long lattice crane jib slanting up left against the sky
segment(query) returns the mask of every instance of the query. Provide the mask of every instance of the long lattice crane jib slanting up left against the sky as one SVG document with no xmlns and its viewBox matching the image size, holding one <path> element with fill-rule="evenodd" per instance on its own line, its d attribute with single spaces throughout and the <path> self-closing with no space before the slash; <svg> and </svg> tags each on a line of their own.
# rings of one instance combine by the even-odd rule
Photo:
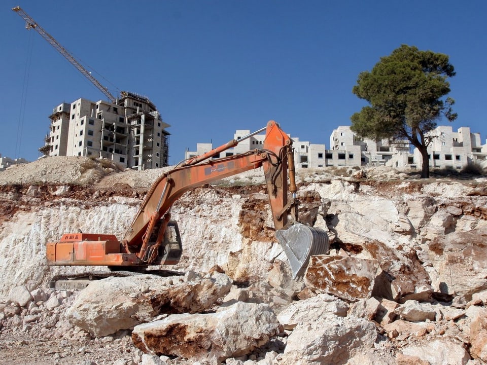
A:
<svg viewBox="0 0 487 365">
<path fill-rule="evenodd" d="M 62 47 L 54 37 L 45 31 L 39 24 L 37 24 L 26 12 L 22 10 L 19 6 L 12 8 L 14 12 L 16 12 L 19 16 L 21 16 L 25 20 L 25 28 L 26 29 L 34 29 L 39 34 L 42 35 L 46 41 L 48 41 L 51 46 L 53 46 L 60 54 L 64 56 L 73 66 L 75 66 L 89 81 L 95 85 L 98 90 L 100 90 L 112 103 L 116 103 L 117 99 L 108 91 L 108 89 L 101 85 L 98 80 L 96 80 L 86 68 L 84 68 L 80 62 L 71 54 L 69 53 L 64 47 Z"/>
</svg>

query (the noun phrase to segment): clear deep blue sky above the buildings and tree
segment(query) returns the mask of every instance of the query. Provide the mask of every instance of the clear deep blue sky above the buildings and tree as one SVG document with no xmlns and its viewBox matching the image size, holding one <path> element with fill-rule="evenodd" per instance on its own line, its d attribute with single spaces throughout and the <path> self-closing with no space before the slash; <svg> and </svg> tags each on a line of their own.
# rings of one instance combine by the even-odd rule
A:
<svg viewBox="0 0 487 365">
<path fill-rule="evenodd" d="M 457 72 L 449 96 L 459 115 L 452 126 L 469 126 L 485 142 L 485 1 L 6 0 L 3 156 L 37 159 L 53 107 L 105 99 L 24 28 L 11 10 L 17 5 L 114 94 L 128 90 L 156 104 L 171 125 L 170 164 L 197 142 L 220 145 L 235 130 L 254 131 L 270 119 L 292 137 L 329 148 L 332 130 L 350 125 L 365 105 L 352 94 L 359 72 L 401 44 L 449 55 Z"/>
</svg>

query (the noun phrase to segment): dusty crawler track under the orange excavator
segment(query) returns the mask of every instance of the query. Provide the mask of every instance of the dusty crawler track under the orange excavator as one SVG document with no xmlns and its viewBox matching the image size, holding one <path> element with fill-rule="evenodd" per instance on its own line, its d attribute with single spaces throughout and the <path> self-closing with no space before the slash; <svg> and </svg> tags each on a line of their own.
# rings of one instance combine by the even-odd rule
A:
<svg viewBox="0 0 487 365">
<path fill-rule="evenodd" d="M 172 270 L 144 270 L 144 271 L 90 271 L 79 274 L 60 274 L 53 276 L 49 286 L 56 290 L 83 290 L 94 280 L 105 279 L 108 277 L 127 277 L 135 275 L 158 275 L 158 276 L 181 276 L 184 273 Z"/>
</svg>

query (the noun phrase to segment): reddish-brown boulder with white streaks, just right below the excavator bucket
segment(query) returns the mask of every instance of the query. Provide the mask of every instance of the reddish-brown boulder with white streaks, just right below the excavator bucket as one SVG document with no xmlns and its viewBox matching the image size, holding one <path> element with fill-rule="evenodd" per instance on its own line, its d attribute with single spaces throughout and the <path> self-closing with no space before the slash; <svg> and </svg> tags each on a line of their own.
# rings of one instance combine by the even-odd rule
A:
<svg viewBox="0 0 487 365">
<path fill-rule="evenodd" d="M 353 257 L 311 256 L 304 275 L 306 286 L 346 301 L 370 298 L 377 271 L 372 260 Z"/>
</svg>

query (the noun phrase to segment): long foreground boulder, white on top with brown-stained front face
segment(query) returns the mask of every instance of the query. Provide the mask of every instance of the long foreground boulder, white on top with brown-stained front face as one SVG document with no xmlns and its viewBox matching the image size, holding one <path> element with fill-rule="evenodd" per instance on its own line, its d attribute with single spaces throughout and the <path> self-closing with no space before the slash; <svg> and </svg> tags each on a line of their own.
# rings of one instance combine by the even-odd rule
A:
<svg viewBox="0 0 487 365">
<path fill-rule="evenodd" d="M 238 302 L 216 313 L 173 314 L 137 325 L 132 340 L 146 353 L 222 361 L 249 353 L 281 332 L 269 306 Z"/>
</svg>

